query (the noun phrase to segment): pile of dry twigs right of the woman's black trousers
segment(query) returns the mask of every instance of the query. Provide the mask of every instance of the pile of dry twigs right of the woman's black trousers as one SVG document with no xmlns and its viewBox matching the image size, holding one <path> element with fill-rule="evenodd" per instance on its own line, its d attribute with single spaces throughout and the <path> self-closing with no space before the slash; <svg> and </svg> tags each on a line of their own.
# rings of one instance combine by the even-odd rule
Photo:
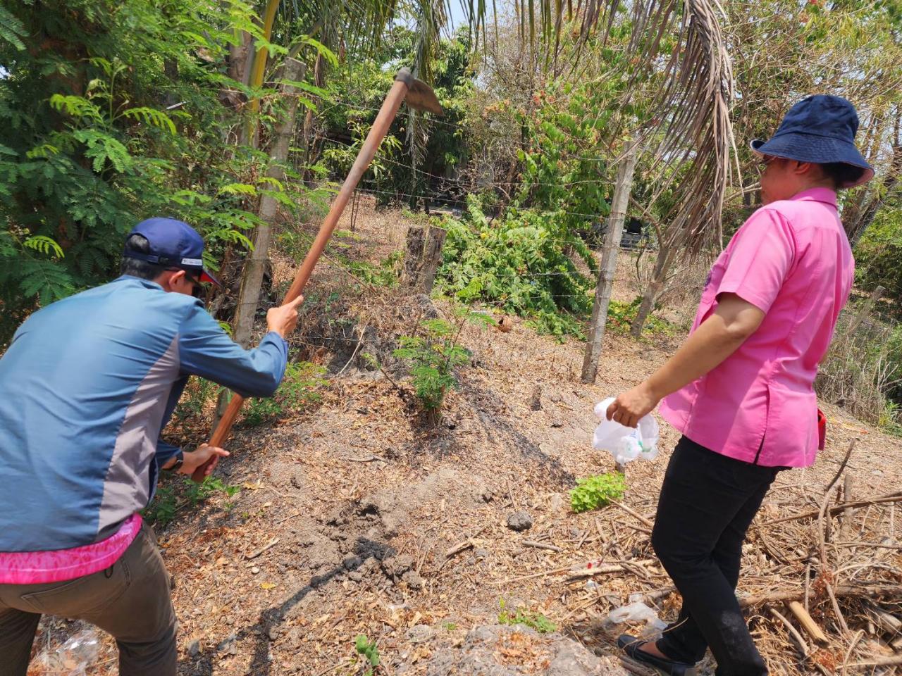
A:
<svg viewBox="0 0 902 676">
<path fill-rule="evenodd" d="M 792 644 L 805 671 L 894 673 L 902 665 L 902 546 L 894 536 L 902 491 L 856 499 L 853 449 L 821 495 L 798 487 L 796 503 L 812 509 L 759 520 L 750 533 L 759 566 L 742 603 L 776 629 L 759 641 L 771 663 L 784 662 Z"/>
</svg>

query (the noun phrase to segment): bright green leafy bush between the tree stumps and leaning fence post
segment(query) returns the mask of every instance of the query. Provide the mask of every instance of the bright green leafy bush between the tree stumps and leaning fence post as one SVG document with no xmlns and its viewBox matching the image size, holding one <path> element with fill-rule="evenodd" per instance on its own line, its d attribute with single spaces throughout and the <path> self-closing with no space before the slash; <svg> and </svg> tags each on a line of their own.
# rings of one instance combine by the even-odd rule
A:
<svg viewBox="0 0 902 676">
<path fill-rule="evenodd" d="M 594 266 L 584 242 L 563 232 L 554 214 L 511 210 L 490 224 L 474 196 L 467 204 L 462 219 L 446 221 L 438 287 L 467 304 L 483 300 L 529 317 L 543 333 L 581 336 L 594 281 L 568 252 Z"/>
</svg>

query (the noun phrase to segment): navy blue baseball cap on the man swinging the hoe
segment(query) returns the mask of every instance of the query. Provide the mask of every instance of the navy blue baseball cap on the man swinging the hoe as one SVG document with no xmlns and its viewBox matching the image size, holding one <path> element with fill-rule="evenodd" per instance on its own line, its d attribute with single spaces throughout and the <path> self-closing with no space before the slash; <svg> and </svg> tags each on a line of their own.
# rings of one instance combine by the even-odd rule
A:
<svg viewBox="0 0 902 676">
<path fill-rule="evenodd" d="M 135 225 L 128 236 L 133 234 L 142 235 L 150 243 L 150 251 L 133 251 L 126 246 L 122 254 L 126 258 L 146 260 L 164 268 L 183 269 L 195 273 L 202 282 L 222 286 L 204 268 L 204 238 L 189 224 L 175 218 L 148 218 Z"/>
</svg>

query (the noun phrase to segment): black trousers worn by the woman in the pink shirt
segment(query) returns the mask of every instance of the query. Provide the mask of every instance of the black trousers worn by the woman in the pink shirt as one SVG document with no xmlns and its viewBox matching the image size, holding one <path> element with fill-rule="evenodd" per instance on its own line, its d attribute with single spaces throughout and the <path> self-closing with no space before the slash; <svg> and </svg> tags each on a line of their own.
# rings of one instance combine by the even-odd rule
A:
<svg viewBox="0 0 902 676">
<path fill-rule="evenodd" d="M 781 467 L 762 467 L 709 451 L 686 437 L 676 444 L 658 500 L 651 543 L 683 596 L 658 649 L 694 663 L 711 648 L 717 676 L 764 676 L 739 602 L 742 542 Z"/>
</svg>

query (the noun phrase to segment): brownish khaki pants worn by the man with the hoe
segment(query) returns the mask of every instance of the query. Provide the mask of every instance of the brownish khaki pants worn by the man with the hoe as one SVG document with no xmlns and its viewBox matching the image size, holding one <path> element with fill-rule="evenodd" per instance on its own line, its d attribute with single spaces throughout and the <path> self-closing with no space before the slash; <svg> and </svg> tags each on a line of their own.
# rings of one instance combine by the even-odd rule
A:
<svg viewBox="0 0 902 676">
<path fill-rule="evenodd" d="M 149 525 L 106 571 L 50 584 L 0 584 L 0 676 L 25 676 L 43 614 L 82 619 L 113 635 L 120 676 L 175 675 L 169 576 Z"/>
</svg>

